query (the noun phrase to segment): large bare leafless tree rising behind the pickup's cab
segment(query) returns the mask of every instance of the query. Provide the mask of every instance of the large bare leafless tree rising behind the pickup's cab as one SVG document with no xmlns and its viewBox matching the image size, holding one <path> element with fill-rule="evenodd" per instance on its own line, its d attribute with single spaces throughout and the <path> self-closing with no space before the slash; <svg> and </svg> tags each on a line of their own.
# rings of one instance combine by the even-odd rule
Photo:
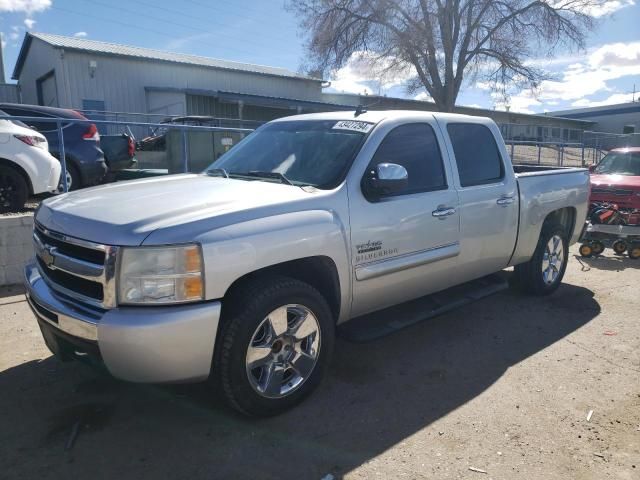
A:
<svg viewBox="0 0 640 480">
<path fill-rule="evenodd" d="M 583 48 L 599 0 L 292 0 L 307 36 L 309 67 L 326 73 L 353 55 L 405 69 L 450 112 L 464 79 L 535 88 L 548 78 L 533 59 Z"/>
</svg>

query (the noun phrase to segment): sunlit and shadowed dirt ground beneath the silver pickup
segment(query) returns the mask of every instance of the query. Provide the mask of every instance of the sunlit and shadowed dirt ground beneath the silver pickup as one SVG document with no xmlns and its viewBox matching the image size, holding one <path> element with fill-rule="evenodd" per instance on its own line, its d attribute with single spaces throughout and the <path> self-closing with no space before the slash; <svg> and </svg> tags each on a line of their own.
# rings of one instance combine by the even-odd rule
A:
<svg viewBox="0 0 640 480">
<path fill-rule="evenodd" d="M 339 341 L 315 395 L 267 420 L 59 363 L 0 290 L 0 478 L 638 479 L 638 262 L 572 255 L 551 297 Z"/>
</svg>

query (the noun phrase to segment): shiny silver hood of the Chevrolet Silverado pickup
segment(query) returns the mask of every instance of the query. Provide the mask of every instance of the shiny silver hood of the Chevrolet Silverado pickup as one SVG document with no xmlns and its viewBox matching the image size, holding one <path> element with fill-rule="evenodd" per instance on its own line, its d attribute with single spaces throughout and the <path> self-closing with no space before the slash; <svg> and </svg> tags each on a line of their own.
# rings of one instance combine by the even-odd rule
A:
<svg viewBox="0 0 640 480">
<path fill-rule="evenodd" d="M 52 231 L 108 245 L 140 245 L 153 231 L 303 200 L 309 190 L 265 181 L 170 175 L 118 182 L 42 203 L 36 220 Z M 237 216 L 236 216 L 237 217 Z"/>
</svg>

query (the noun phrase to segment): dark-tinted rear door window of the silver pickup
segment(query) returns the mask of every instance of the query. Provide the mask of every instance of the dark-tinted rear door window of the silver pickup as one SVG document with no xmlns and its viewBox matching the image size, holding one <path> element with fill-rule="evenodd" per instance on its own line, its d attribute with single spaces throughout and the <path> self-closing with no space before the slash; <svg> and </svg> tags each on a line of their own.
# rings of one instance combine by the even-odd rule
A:
<svg viewBox="0 0 640 480">
<path fill-rule="evenodd" d="M 504 164 L 491 130 L 477 123 L 447 125 L 463 187 L 497 183 L 504 178 Z"/>
</svg>

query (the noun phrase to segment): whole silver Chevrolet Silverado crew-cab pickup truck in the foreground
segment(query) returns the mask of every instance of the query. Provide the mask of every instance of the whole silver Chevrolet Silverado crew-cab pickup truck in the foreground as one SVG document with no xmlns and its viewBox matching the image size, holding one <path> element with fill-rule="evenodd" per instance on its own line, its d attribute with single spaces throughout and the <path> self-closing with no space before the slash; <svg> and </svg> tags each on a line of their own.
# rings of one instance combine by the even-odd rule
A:
<svg viewBox="0 0 640 480">
<path fill-rule="evenodd" d="M 43 202 L 27 298 L 63 359 L 207 379 L 272 415 L 318 385 L 350 319 L 509 266 L 524 291 L 553 292 L 588 196 L 584 169 L 514 167 L 487 118 L 283 118 L 201 174 Z"/>
</svg>

